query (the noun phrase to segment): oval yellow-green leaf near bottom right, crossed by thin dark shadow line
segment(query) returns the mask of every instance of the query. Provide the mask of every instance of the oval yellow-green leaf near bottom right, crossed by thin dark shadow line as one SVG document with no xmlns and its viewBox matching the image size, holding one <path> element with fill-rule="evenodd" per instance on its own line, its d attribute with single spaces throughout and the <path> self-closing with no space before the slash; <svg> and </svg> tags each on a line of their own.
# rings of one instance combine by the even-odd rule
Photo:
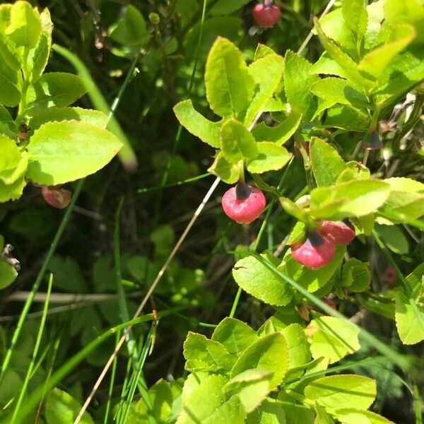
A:
<svg viewBox="0 0 424 424">
<path fill-rule="evenodd" d="M 355 405 L 367 409 L 375 399 L 375 380 L 362 375 L 330 375 L 305 387 L 305 396 L 331 410 Z"/>
</svg>

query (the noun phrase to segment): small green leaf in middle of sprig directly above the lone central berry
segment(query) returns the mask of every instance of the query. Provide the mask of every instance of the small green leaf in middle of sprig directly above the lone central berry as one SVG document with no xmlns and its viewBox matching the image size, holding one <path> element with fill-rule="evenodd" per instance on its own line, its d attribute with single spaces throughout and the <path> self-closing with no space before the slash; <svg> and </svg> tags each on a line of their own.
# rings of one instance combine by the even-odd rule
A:
<svg viewBox="0 0 424 424">
<path fill-rule="evenodd" d="M 259 154 L 257 142 L 247 128 L 235 119 L 228 119 L 220 127 L 220 146 L 229 163 L 254 159 Z"/>
</svg>

